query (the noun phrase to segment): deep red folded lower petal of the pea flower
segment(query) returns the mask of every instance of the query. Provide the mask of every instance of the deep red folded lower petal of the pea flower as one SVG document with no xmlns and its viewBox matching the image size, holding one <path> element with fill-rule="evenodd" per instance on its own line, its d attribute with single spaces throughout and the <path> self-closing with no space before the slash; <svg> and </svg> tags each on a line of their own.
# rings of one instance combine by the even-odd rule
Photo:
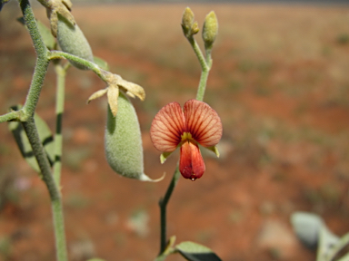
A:
<svg viewBox="0 0 349 261">
<path fill-rule="evenodd" d="M 204 174 L 204 160 L 199 147 L 192 142 L 184 142 L 181 147 L 179 171 L 185 179 L 201 178 Z"/>
</svg>

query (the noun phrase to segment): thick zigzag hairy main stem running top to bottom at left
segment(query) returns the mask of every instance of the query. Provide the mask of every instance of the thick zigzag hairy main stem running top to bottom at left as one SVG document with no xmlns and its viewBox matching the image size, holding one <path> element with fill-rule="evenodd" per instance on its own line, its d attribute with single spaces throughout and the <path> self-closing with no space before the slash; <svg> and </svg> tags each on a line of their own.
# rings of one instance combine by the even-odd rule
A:
<svg viewBox="0 0 349 261">
<path fill-rule="evenodd" d="M 42 90 L 43 82 L 45 79 L 45 74 L 47 72 L 48 63 L 50 61 L 48 59 L 49 51 L 47 50 L 45 43 L 39 33 L 35 15 L 33 14 L 33 10 L 29 5 L 29 1 L 20 0 L 19 3 L 24 14 L 25 25 L 27 26 L 29 34 L 34 43 L 37 59 L 35 64 L 35 72 L 33 74 L 33 79 L 25 100 L 25 105 L 21 111 L 17 111 L 17 115 L 19 115 L 19 117 L 13 120 L 23 122 L 26 136 L 28 137 L 28 140 L 32 146 L 33 153 L 40 167 L 43 180 L 51 198 L 55 227 L 55 247 L 57 260 L 66 261 L 67 251 L 65 244 L 65 225 L 61 194 L 52 174 L 50 164 L 47 160 L 47 156 L 37 133 L 34 121 L 35 108 L 39 100 L 40 92 Z M 10 113 L 12 113 L 10 114 L 10 116 L 14 115 L 13 112 Z M 9 117 L 7 116 L 7 118 Z"/>
</svg>

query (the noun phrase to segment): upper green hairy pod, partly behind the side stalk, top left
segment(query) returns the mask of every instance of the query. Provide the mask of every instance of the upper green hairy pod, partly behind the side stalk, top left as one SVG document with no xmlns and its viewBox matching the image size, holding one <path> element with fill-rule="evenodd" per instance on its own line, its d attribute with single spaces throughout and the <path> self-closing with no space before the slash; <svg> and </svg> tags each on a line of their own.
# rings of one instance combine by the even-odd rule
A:
<svg viewBox="0 0 349 261">
<path fill-rule="evenodd" d="M 84 33 L 77 24 L 70 24 L 61 15 L 58 15 L 57 41 L 63 52 L 94 62 L 94 55 Z M 78 69 L 87 69 L 84 65 L 79 63 L 73 61 L 69 62 Z"/>
</svg>

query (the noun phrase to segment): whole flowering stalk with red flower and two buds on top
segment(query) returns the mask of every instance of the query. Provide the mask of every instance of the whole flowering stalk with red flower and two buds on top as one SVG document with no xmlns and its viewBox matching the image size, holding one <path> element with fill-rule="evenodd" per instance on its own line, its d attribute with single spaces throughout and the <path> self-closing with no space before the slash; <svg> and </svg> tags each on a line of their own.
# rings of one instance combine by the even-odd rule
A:
<svg viewBox="0 0 349 261">
<path fill-rule="evenodd" d="M 218 30 L 217 19 L 214 12 L 211 12 L 207 14 L 204 22 L 203 40 L 205 57 L 194 39 L 194 34 L 199 32 L 199 28 L 197 22 L 194 21 L 194 13 L 189 7 L 184 9 L 181 25 L 184 36 L 191 44 L 200 63 L 201 76 L 196 100 L 191 100 L 184 104 L 184 115 L 179 104 L 172 102 L 161 109 L 152 122 L 150 131 L 152 141 L 157 150 L 163 151 L 160 157 L 161 163 L 164 163 L 166 158 L 177 147 L 181 148 L 179 165 L 175 169 L 175 174 L 166 190 L 165 197 L 160 198 L 159 201 L 161 220 L 160 254 L 155 260 L 164 260 L 166 256 L 166 206 L 175 189 L 179 174 L 181 173 L 186 179 L 195 180 L 200 178 L 205 168 L 204 160 L 197 144 L 202 143 L 204 147 L 208 150 L 213 150 L 217 157 L 219 157 L 215 144 L 222 137 L 222 123 L 218 114 L 203 102 L 207 79 L 212 66 L 211 52 Z M 186 106 L 186 104 L 188 105 Z M 182 113 L 178 111 L 178 107 Z M 194 110 L 191 110 L 193 108 Z M 195 115 L 194 111 L 199 112 Z M 207 118 L 209 119 L 208 124 L 206 121 Z M 196 123 L 194 123 L 193 119 L 194 121 L 197 120 Z M 208 134 L 204 135 L 203 133 L 205 132 Z"/>
</svg>

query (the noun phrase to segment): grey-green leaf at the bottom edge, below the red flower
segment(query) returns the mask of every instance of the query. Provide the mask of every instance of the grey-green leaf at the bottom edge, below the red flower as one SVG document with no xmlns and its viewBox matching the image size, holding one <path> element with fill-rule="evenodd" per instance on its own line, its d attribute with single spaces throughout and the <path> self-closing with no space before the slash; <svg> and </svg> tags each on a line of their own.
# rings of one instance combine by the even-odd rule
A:
<svg viewBox="0 0 349 261">
<path fill-rule="evenodd" d="M 210 248 L 191 241 L 184 241 L 175 249 L 189 261 L 222 261 Z"/>
</svg>

